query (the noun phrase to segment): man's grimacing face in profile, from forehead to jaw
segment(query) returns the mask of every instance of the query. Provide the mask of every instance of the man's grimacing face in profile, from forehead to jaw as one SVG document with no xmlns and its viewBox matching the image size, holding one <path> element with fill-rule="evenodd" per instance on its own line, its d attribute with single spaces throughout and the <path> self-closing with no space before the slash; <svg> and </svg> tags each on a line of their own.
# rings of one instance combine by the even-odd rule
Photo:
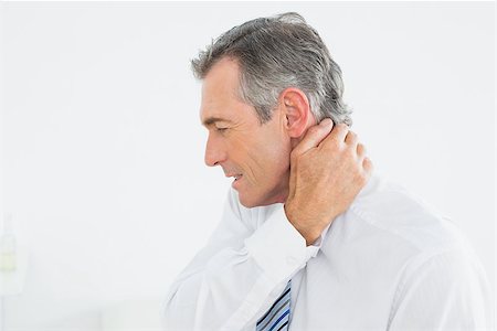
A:
<svg viewBox="0 0 497 331">
<path fill-rule="evenodd" d="M 209 130 L 205 164 L 221 166 L 246 207 L 285 202 L 290 138 L 279 108 L 261 125 L 255 108 L 239 97 L 239 65 L 221 58 L 202 84 L 200 118 Z"/>
</svg>

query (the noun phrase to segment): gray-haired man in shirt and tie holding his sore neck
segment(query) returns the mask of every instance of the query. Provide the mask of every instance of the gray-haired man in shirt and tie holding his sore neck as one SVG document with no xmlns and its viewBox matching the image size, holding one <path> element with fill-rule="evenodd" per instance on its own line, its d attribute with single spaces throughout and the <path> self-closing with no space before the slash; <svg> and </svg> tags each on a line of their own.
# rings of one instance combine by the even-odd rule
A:
<svg viewBox="0 0 497 331">
<path fill-rule="evenodd" d="M 300 15 L 235 26 L 192 67 L 205 163 L 234 181 L 171 286 L 168 330 L 489 328 L 474 253 L 450 221 L 371 177 L 340 68 Z"/>
</svg>

